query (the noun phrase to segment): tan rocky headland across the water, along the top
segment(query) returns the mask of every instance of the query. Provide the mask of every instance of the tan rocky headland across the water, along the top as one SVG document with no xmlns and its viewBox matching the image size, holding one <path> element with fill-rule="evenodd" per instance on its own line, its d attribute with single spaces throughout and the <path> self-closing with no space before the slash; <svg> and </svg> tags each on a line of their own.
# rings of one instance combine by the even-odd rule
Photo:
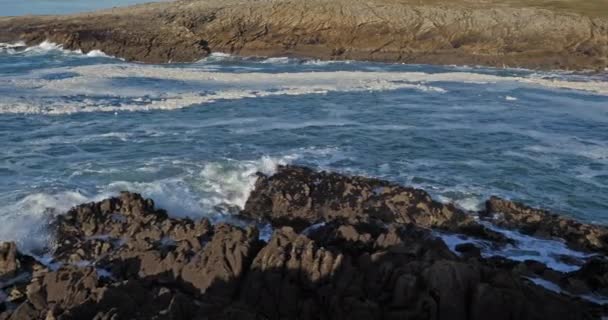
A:
<svg viewBox="0 0 608 320">
<path fill-rule="evenodd" d="M 0 41 L 49 40 L 151 63 L 225 52 L 603 69 L 608 20 L 576 8 L 502 1 L 183 0 L 64 17 L 4 18 Z"/>
</svg>

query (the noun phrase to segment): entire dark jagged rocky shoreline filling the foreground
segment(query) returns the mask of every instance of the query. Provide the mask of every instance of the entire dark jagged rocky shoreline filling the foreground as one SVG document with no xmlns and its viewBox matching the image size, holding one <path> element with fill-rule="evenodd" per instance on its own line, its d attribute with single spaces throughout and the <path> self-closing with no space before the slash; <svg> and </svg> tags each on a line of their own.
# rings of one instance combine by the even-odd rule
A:
<svg viewBox="0 0 608 320">
<path fill-rule="evenodd" d="M 600 319 L 608 229 L 491 198 L 473 214 L 423 190 L 282 166 L 259 174 L 248 227 L 174 219 L 124 192 L 51 224 L 45 258 L 0 244 L 0 319 Z M 477 218 L 475 218 L 477 217 Z M 496 247 L 485 222 L 589 253 L 573 272 L 452 251 Z M 268 241 L 257 222 L 270 222 Z M 564 258 L 566 259 L 566 258 Z M 44 262 L 44 263 L 43 263 Z M 539 285 L 540 284 L 540 285 Z M 594 298 L 594 299 L 592 299 Z"/>
</svg>

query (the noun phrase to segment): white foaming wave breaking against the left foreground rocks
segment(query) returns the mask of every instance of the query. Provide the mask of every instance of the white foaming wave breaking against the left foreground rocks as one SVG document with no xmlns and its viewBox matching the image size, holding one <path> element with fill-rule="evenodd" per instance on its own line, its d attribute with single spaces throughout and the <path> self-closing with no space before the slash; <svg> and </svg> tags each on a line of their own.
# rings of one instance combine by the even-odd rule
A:
<svg viewBox="0 0 608 320">
<path fill-rule="evenodd" d="M 27 252 L 48 247 L 53 241 L 49 223 L 56 215 L 125 190 L 154 199 L 158 207 L 168 210 L 174 217 L 208 217 L 212 221 L 223 221 L 230 219 L 234 210 L 244 207 L 257 172 L 272 174 L 278 165 L 288 164 L 297 157 L 293 154 L 249 161 L 227 159 L 206 163 L 200 169 L 166 179 L 114 181 L 88 192 L 75 189 L 28 194 L 0 207 L 0 241 L 15 241 Z"/>
</svg>

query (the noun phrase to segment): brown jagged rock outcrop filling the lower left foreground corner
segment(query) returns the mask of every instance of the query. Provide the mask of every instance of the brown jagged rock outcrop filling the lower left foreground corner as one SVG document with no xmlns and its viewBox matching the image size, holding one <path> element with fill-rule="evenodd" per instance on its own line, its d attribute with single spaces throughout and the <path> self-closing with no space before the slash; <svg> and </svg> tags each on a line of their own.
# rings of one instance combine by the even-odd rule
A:
<svg viewBox="0 0 608 320">
<path fill-rule="evenodd" d="M 75 207 L 53 227 L 53 262 L 7 289 L 21 295 L 10 319 L 193 319 L 217 312 L 232 302 L 262 245 L 255 228 L 172 219 L 131 193 Z"/>
</svg>

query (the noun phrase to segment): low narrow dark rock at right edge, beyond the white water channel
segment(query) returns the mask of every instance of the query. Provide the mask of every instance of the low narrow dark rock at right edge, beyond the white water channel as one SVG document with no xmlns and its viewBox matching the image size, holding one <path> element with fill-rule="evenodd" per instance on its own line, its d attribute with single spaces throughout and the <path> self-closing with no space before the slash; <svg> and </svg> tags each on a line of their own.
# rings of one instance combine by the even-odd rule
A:
<svg viewBox="0 0 608 320">
<path fill-rule="evenodd" d="M 484 214 L 492 222 L 537 237 L 558 237 L 574 248 L 608 253 L 608 228 L 534 209 L 521 203 L 491 197 Z"/>
</svg>

